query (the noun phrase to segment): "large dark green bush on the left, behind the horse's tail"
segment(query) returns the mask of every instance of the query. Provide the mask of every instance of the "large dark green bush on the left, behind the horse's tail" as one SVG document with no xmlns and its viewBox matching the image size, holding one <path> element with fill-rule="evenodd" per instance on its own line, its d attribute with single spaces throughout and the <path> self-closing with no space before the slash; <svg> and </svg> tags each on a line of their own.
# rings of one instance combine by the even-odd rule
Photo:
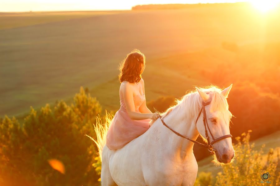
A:
<svg viewBox="0 0 280 186">
<path fill-rule="evenodd" d="M 98 185 L 96 147 L 84 134 L 96 137 L 96 98 L 81 87 L 69 106 L 59 101 L 35 111 L 22 125 L 15 117 L 0 121 L 0 185 Z M 65 172 L 64 172 L 65 170 Z"/>
</svg>

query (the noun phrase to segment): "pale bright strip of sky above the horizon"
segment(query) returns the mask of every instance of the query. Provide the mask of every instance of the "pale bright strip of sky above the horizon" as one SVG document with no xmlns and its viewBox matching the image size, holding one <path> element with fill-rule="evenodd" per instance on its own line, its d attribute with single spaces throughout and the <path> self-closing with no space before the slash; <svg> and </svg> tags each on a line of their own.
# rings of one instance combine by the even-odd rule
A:
<svg viewBox="0 0 280 186">
<path fill-rule="evenodd" d="M 240 2 L 240 0 L 0 0 L 0 12 L 130 10 L 131 7 L 141 4 L 195 4 L 215 2 Z"/>
</svg>

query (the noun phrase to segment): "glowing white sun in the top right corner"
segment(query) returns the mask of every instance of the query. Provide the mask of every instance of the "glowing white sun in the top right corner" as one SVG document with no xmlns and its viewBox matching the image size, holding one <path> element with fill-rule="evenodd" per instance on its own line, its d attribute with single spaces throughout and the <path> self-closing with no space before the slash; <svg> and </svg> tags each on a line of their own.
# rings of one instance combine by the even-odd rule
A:
<svg viewBox="0 0 280 186">
<path fill-rule="evenodd" d="M 268 12 L 280 4 L 280 0 L 250 0 L 250 3 L 262 12 Z"/>
</svg>

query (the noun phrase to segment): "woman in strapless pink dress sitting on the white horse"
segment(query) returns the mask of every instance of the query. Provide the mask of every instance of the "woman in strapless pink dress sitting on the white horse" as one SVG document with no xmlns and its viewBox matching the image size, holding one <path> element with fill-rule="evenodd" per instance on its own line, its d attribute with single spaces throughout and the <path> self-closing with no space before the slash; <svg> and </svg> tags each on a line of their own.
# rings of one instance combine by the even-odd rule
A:
<svg viewBox="0 0 280 186">
<path fill-rule="evenodd" d="M 115 113 L 108 129 L 106 145 L 110 150 L 122 148 L 149 129 L 149 122 L 160 115 L 152 113 L 146 105 L 144 80 L 145 55 L 134 49 L 119 66 L 120 109 Z"/>
</svg>

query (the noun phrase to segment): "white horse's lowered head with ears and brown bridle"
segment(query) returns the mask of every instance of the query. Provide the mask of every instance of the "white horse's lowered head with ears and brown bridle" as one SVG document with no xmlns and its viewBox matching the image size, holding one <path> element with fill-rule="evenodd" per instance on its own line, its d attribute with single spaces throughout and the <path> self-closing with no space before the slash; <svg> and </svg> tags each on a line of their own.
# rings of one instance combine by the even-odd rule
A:
<svg viewBox="0 0 280 186">
<path fill-rule="evenodd" d="M 232 114 L 228 110 L 226 100 L 231 87 L 232 84 L 224 90 L 214 86 L 209 89 L 195 87 L 198 108 L 201 108 L 202 112 L 196 118 L 196 129 L 203 140 L 208 142 L 208 145 L 210 143 L 211 150 L 215 152 L 217 161 L 220 163 L 230 163 L 235 154 L 229 129 Z"/>
</svg>

